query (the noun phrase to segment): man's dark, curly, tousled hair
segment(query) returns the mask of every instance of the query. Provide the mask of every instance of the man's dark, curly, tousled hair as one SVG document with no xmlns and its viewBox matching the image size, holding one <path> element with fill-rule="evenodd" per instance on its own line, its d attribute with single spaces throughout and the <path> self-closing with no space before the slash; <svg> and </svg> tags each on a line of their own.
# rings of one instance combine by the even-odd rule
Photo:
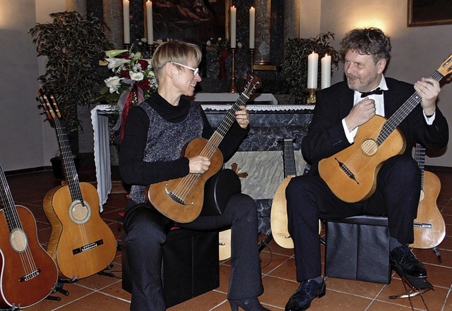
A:
<svg viewBox="0 0 452 311">
<path fill-rule="evenodd" d="M 389 61 L 391 41 L 379 28 L 356 28 L 345 34 L 340 42 L 340 56 L 344 58 L 352 50 L 361 55 L 371 55 L 375 63 L 380 59 Z"/>
</svg>

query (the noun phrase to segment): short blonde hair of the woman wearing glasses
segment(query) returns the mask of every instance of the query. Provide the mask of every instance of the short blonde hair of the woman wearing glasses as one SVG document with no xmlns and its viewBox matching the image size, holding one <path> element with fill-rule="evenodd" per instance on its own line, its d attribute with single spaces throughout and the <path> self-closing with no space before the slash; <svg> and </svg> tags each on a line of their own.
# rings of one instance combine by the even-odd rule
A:
<svg viewBox="0 0 452 311">
<path fill-rule="evenodd" d="M 201 49 L 196 44 L 179 40 L 163 42 L 155 49 L 153 55 L 153 71 L 157 82 L 160 77 L 160 71 L 166 63 L 175 62 L 186 65 L 191 59 L 196 59 L 199 64 L 201 63 L 201 56 Z"/>
</svg>

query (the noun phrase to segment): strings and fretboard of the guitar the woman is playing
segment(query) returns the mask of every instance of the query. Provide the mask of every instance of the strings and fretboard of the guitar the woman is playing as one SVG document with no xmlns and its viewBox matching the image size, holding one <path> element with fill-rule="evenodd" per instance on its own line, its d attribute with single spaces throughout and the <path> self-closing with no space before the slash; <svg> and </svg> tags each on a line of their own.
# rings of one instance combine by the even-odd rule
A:
<svg viewBox="0 0 452 311">
<path fill-rule="evenodd" d="M 222 138 L 230 129 L 232 123 L 235 120 L 235 111 L 238 111 L 239 106 L 245 104 L 248 99 L 249 94 L 242 93 L 239 96 L 237 102 L 231 107 L 230 111 L 228 111 L 225 118 L 220 123 L 220 126 L 218 126 L 218 129 L 215 130 L 215 133 L 213 133 L 212 137 L 208 140 L 208 142 L 203 147 L 199 155 L 207 157 L 208 159 L 211 159 L 213 157 L 213 154 L 215 154 Z M 200 177 L 199 174 L 189 173 L 189 175 L 184 176 L 184 178 L 182 178 L 182 180 L 178 183 L 178 185 L 176 186 L 172 193 L 174 193 L 175 195 L 177 195 L 177 197 L 185 201 L 187 195 L 191 193 L 191 190 L 194 188 L 194 185 L 196 185 L 196 182 L 198 181 L 199 177 Z"/>
</svg>

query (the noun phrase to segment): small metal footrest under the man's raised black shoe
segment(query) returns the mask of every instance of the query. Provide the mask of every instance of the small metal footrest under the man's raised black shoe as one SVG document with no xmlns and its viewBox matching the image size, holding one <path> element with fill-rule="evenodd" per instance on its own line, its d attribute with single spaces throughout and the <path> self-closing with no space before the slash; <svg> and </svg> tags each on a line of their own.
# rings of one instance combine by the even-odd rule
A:
<svg viewBox="0 0 452 311">
<path fill-rule="evenodd" d="M 393 269 L 400 276 L 400 279 L 402 279 L 403 287 L 405 288 L 405 293 L 400 295 L 389 296 L 389 299 L 408 298 L 408 300 L 410 301 L 411 310 L 414 311 L 415 308 L 412 305 L 411 298 L 420 295 L 422 303 L 424 303 L 425 309 L 429 311 L 429 307 L 427 307 L 427 302 L 424 299 L 424 293 L 427 293 L 427 291 L 430 290 L 434 290 L 433 285 L 429 283 L 429 281 L 427 281 L 427 278 L 413 278 L 411 276 L 403 274 L 402 270 L 398 269 L 398 267 L 396 267 L 395 265 L 393 265 Z"/>
</svg>

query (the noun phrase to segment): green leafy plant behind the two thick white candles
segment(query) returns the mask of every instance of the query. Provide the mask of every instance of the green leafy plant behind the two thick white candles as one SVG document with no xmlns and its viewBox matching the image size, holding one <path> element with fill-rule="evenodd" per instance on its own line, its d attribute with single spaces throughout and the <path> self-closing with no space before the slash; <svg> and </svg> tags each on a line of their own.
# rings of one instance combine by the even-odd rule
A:
<svg viewBox="0 0 452 311">
<path fill-rule="evenodd" d="M 338 69 L 339 54 L 330 46 L 330 40 L 334 40 L 332 32 L 321 33 L 315 38 L 288 39 L 284 44 L 284 57 L 281 63 L 281 74 L 286 82 L 290 95 L 296 103 L 306 103 L 308 94 L 306 92 L 308 80 L 308 55 L 315 51 L 319 54 L 318 84 L 321 85 L 320 59 L 325 54 L 331 55 L 331 74 L 333 68 Z"/>
</svg>

